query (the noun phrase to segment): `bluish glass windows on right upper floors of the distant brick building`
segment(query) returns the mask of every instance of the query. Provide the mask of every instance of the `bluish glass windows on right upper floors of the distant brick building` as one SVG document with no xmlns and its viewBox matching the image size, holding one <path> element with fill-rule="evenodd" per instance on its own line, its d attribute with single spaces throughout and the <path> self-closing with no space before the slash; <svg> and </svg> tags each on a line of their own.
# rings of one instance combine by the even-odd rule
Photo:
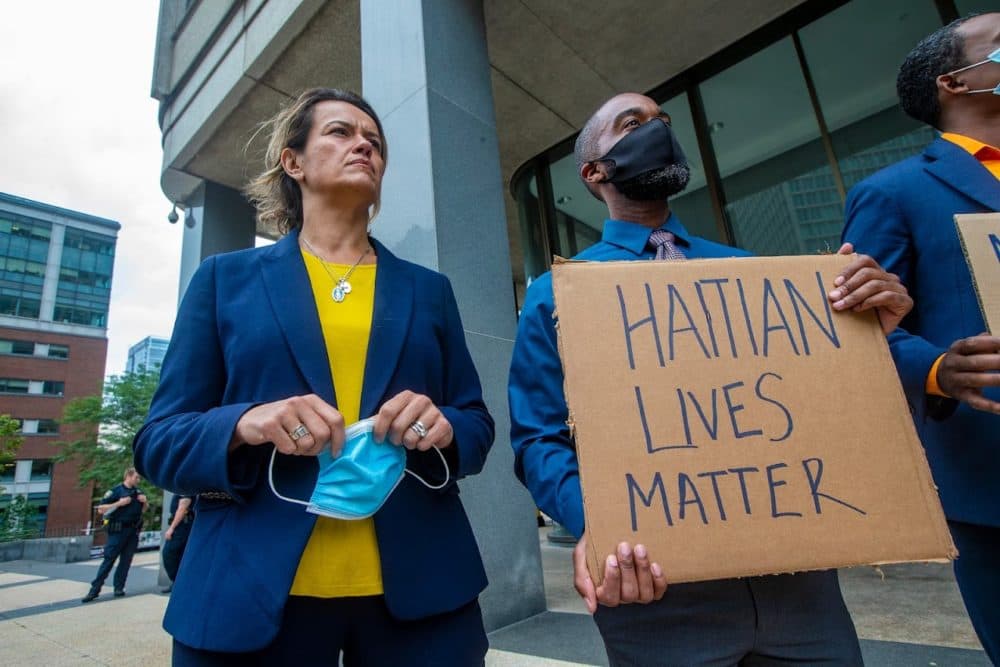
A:
<svg viewBox="0 0 1000 667">
<path fill-rule="evenodd" d="M 52 319 L 92 327 L 107 326 L 114 259 L 114 239 L 67 229 Z"/>
</svg>

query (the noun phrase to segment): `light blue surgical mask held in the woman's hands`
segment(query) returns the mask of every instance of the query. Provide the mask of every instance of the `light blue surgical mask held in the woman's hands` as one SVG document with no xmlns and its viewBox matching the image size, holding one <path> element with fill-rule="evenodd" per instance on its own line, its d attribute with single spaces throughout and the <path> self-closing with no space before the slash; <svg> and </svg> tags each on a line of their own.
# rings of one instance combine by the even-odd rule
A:
<svg viewBox="0 0 1000 667">
<path fill-rule="evenodd" d="M 345 432 L 344 448 L 336 457 L 330 453 L 329 444 L 316 455 L 319 476 L 308 502 L 287 498 L 274 488 L 274 459 L 278 450 L 273 450 L 267 472 L 271 491 L 282 500 L 305 505 L 306 511 L 313 514 L 333 519 L 365 519 L 382 507 L 402 481 L 404 473 L 412 475 L 429 489 L 444 488 L 450 475 L 441 450 L 434 448 L 441 457 L 445 479 L 435 486 L 406 469 L 406 450 L 403 447 L 388 440 L 375 441 L 372 436 L 374 424 L 375 418 L 370 417 L 349 426 Z"/>
</svg>

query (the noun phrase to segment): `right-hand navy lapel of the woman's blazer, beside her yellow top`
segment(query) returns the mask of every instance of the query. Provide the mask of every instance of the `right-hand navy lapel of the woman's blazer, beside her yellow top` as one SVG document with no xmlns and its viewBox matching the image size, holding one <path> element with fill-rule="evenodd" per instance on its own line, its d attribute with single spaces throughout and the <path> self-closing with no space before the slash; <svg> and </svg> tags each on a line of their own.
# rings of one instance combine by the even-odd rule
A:
<svg viewBox="0 0 1000 667">
<path fill-rule="evenodd" d="M 375 414 L 388 389 L 399 365 L 399 355 L 413 313 L 413 284 L 406 279 L 403 262 L 375 239 L 372 239 L 372 246 L 378 255 L 378 270 L 375 273 L 375 309 L 365 359 L 365 380 L 361 390 L 362 418 Z"/>
</svg>

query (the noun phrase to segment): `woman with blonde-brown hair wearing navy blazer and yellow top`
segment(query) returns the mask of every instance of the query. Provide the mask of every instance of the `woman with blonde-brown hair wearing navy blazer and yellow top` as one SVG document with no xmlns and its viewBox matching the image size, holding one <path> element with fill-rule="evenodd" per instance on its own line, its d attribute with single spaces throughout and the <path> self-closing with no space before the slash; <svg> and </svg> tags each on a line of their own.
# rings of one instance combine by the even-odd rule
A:
<svg viewBox="0 0 1000 667">
<path fill-rule="evenodd" d="M 306 91 L 270 128 L 249 192 L 287 234 L 195 273 L 133 445 L 143 476 L 199 496 L 164 618 L 174 664 L 482 664 L 486 575 L 455 481 L 482 469 L 493 420 L 451 285 L 368 235 L 386 148 L 363 99 Z M 281 493 L 308 499 L 345 427 L 304 251 L 377 265 L 359 414 L 424 479 L 445 478 L 432 450 L 448 467 L 437 490 L 404 475 L 374 515 L 382 595 L 289 594 L 317 518 L 272 492 L 272 450 Z"/>
</svg>

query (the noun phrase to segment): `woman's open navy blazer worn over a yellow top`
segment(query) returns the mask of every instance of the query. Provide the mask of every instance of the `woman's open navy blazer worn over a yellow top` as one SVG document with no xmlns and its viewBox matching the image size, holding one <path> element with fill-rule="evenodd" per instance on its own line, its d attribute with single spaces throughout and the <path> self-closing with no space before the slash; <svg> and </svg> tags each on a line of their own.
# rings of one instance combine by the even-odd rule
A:
<svg viewBox="0 0 1000 667">
<path fill-rule="evenodd" d="M 429 396 L 455 432 L 443 450 L 452 481 L 431 491 L 404 475 L 374 517 L 386 604 L 396 618 L 416 619 L 457 609 L 486 586 L 455 480 L 482 469 L 493 420 L 448 279 L 372 245 L 378 271 L 360 414 L 410 389 Z M 227 445 L 251 407 L 308 393 L 336 405 L 298 234 L 206 259 L 181 303 L 159 389 L 133 443 L 136 468 L 154 484 L 233 497 L 197 502 L 163 621 L 181 643 L 250 651 L 277 633 L 316 516 L 271 492 L 271 445 L 232 454 Z M 407 467 L 443 479 L 434 452 L 407 452 Z M 317 470 L 314 457 L 279 455 L 275 485 L 308 499 Z"/>
</svg>

